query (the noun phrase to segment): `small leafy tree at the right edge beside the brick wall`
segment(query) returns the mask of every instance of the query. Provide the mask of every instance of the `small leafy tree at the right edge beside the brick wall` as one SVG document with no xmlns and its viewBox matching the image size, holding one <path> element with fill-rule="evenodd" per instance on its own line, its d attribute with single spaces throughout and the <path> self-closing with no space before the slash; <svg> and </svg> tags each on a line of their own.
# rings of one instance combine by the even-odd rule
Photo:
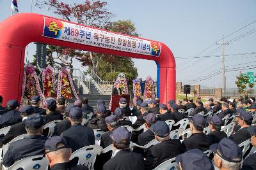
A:
<svg viewBox="0 0 256 170">
<path fill-rule="evenodd" d="M 237 86 L 237 90 L 238 90 L 239 94 L 241 94 L 241 96 L 243 96 L 243 98 L 245 98 L 246 96 L 248 96 L 248 94 L 250 94 L 250 92 L 252 92 L 254 83 L 249 82 L 249 77 L 247 76 L 247 74 L 241 73 L 236 78 L 237 78 L 237 81 L 235 81 L 235 83 Z M 247 89 L 248 87 L 251 89 Z"/>
</svg>

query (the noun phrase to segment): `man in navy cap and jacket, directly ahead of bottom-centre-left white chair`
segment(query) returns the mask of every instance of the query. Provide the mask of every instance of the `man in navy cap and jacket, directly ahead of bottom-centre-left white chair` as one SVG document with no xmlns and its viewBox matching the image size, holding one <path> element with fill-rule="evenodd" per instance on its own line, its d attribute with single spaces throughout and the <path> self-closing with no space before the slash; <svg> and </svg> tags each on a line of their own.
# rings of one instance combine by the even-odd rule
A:
<svg viewBox="0 0 256 170">
<path fill-rule="evenodd" d="M 82 117 L 83 113 L 81 108 L 72 108 L 68 115 L 68 121 L 71 122 L 72 126 L 61 134 L 61 136 L 66 139 L 68 146 L 72 148 L 72 152 L 75 152 L 84 146 L 95 144 L 92 129 L 81 125 L 83 121 Z"/>
</svg>

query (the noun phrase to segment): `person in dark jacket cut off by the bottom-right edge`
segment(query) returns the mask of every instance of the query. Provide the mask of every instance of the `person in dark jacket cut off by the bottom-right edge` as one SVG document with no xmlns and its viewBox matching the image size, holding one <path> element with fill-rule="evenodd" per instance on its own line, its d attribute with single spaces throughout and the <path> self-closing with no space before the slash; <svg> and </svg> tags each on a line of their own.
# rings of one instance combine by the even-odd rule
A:
<svg viewBox="0 0 256 170">
<path fill-rule="evenodd" d="M 256 127 L 248 127 L 247 131 L 251 134 L 251 143 L 252 146 L 256 146 Z M 252 153 L 243 162 L 243 166 L 241 170 L 249 170 L 249 169 L 256 169 L 256 152 Z"/>
</svg>

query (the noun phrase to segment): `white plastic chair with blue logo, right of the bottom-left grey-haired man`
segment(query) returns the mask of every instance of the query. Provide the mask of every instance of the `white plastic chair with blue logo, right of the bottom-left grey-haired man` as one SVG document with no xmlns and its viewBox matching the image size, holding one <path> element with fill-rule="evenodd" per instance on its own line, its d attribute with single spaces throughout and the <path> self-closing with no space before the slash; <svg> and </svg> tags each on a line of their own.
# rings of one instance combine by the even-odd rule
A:
<svg viewBox="0 0 256 170">
<path fill-rule="evenodd" d="M 87 166 L 89 170 L 92 170 L 96 156 L 99 155 L 102 150 L 102 147 L 98 145 L 85 146 L 73 152 L 69 160 L 78 157 L 77 165 Z"/>
</svg>

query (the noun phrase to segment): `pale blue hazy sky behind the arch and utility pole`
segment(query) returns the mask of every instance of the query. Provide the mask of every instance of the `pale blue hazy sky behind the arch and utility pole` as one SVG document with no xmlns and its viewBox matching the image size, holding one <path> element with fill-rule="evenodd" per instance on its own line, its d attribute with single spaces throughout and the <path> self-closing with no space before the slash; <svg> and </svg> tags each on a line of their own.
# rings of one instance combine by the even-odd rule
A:
<svg viewBox="0 0 256 170">
<path fill-rule="evenodd" d="M 30 0 L 17 1 L 20 13 L 30 12 Z M 82 0 L 63 1 L 82 2 Z M 214 76 L 216 71 L 221 71 L 221 57 L 214 57 L 214 55 L 222 53 L 221 48 L 218 47 L 223 41 L 221 39 L 223 35 L 227 36 L 224 39 L 225 42 L 236 37 L 240 38 L 230 41 L 229 44 L 226 43 L 224 48 L 224 53 L 227 55 L 225 68 L 229 70 L 226 73 L 227 88 L 236 87 L 234 81 L 239 74 L 237 69 L 243 69 L 243 73 L 256 72 L 255 68 L 246 69 L 256 66 L 256 53 L 253 55 L 253 52 L 256 52 L 254 30 L 256 22 L 253 22 L 256 20 L 256 0 L 106 1 L 108 10 L 113 13 L 113 21 L 132 20 L 141 37 L 161 41 L 172 50 L 176 61 L 177 81 L 191 85 L 200 84 L 205 88 L 221 87 L 221 74 Z M 54 16 L 47 8 L 38 9 L 35 3 L 36 0 L 33 0 L 34 13 Z M 10 17 L 10 4 L 11 0 L 0 0 L 0 22 Z M 32 60 L 35 49 L 33 43 L 29 45 L 28 56 L 26 56 L 28 60 Z M 205 55 L 211 57 L 205 58 L 203 57 Z M 191 58 L 195 56 L 200 58 Z M 154 61 L 133 60 L 138 67 L 139 78 L 145 79 L 148 75 L 156 78 L 157 68 Z M 77 60 L 74 65 L 80 69 L 86 69 L 81 67 Z M 230 71 L 232 69 L 236 71 Z M 205 79 L 208 76 L 212 77 Z"/>
</svg>

